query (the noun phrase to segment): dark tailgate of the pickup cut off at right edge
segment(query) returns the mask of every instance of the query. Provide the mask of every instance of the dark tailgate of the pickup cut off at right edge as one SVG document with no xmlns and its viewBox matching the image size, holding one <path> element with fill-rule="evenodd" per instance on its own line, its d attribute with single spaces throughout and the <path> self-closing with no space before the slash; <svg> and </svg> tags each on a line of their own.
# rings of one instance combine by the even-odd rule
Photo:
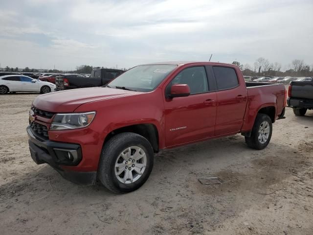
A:
<svg viewBox="0 0 313 235">
<path fill-rule="evenodd" d="M 291 97 L 313 99 L 313 82 L 291 82 Z"/>
</svg>

